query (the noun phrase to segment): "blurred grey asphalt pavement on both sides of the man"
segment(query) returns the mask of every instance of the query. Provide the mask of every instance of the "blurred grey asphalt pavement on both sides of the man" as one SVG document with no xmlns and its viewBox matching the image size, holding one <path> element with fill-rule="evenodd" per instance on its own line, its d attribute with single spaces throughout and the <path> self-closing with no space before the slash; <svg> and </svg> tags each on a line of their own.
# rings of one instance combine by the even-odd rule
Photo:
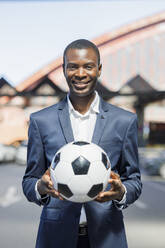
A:
<svg viewBox="0 0 165 248">
<path fill-rule="evenodd" d="M 0 164 L 0 247 L 33 248 L 42 208 L 22 193 L 25 166 Z M 129 248 L 165 248 L 165 180 L 142 176 L 143 193 L 123 211 Z M 115 247 L 119 248 L 119 247 Z"/>
</svg>

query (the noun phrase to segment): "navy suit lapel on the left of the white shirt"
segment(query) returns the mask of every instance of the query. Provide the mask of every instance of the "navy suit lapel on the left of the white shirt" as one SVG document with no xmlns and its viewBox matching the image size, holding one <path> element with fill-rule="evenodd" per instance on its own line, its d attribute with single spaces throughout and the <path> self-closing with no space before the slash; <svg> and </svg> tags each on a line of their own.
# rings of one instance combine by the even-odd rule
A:
<svg viewBox="0 0 165 248">
<path fill-rule="evenodd" d="M 60 125 L 66 139 L 66 142 L 72 142 L 74 140 L 73 131 L 71 127 L 69 111 L 68 111 L 68 104 L 66 98 L 59 103 L 59 121 Z"/>
</svg>

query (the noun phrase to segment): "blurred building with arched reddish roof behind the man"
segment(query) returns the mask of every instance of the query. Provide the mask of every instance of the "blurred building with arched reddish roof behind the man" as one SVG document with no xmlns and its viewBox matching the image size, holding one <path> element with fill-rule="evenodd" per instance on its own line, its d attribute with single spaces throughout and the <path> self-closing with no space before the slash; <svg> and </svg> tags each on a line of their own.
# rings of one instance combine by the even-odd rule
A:
<svg viewBox="0 0 165 248">
<path fill-rule="evenodd" d="M 93 42 L 103 63 L 99 94 L 137 113 L 140 146 L 165 144 L 165 12 L 105 33 Z M 0 143 L 27 139 L 29 114 L 58 102 L 67 91 L 62 57 L 15 88 L 2 77 Z"/>
</svg>

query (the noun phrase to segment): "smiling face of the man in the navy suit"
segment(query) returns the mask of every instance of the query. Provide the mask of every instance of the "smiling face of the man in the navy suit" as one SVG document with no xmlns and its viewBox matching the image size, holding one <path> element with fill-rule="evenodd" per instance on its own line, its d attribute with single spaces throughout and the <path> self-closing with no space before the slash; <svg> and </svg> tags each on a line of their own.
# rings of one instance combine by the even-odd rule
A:
<svg viewBox="0 0 165 248">
<path fill-rule="evenodd" d="M 92 48 L 69 49 L 64 61 L 64 75 L 71 96 L 93 94 L 101 74 L 96 52 Z"/>
</svg>

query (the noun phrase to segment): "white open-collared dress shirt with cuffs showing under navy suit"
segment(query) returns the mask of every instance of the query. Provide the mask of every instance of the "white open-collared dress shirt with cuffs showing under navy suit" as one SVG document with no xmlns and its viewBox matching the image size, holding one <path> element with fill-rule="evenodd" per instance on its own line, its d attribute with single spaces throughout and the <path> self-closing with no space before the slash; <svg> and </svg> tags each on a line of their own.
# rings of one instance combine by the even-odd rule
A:
<svg viewBox="0 0 165 248">
<path fill-rule="evenodd" d="M 68 101 L 69 115 L 73 130 L 74 141 L 91 142 L 96 124 L 97 114 L 99 113 L 100 97 L 98 93 L 95 91 L 95 98 L 91 103 L 89 110 L 85 114 L 80 114 L 78 111 L 74 109 L 69 99 L 69 94 L 67 95 L 67 101 Z M 37 183 L 36 183 L 35 191 L 38 200 L 40 200 L 41 197 L 37 190 Z M 114 202 L 118 203 L 117 207 L 119 209 L 122 209 L 122 204 L 125 203 L 125 200 L 126 200 L 126 188 L 123 199 L 121 201 L 114 201 Z M 86 221 L 86 215 L 83 207 L 81 211 L 80 223 L 84 221 Z"/>
</svg>

